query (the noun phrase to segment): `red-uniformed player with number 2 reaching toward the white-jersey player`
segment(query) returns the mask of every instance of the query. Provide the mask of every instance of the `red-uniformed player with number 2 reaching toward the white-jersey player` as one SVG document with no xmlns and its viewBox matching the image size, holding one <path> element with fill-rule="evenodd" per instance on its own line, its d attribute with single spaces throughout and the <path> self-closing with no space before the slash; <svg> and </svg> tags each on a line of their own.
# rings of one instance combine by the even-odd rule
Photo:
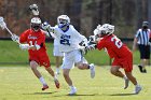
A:
<svg viewBox="0 0 151 100">
<path fill-rule="evenodd" d="M 99 51 L 105 48 L 110 56 L 113 58 L 113 62 L 110 72 L 119 77 L 124 78 L 126 89 L 128 87 L 128 82 L 131 81 L 135 85 L 134 94 L 138 94 L 141 90 L 140 85 L 138 85 L 136 78 L 133 76 L 133 54 L 129 48 L 121 42 L 114 34 L 114 26 L 105 24 L 102 26 L 97 26 L 94 30 L 95 38 L 99 40 L 96 44 L 92 44 L 86 47 L 86 49 L 98 48 Z M 100 39 L 101 38 L 101 39 Z M 123 68 L 125 75 L 119 70 Z"/>
</svg>

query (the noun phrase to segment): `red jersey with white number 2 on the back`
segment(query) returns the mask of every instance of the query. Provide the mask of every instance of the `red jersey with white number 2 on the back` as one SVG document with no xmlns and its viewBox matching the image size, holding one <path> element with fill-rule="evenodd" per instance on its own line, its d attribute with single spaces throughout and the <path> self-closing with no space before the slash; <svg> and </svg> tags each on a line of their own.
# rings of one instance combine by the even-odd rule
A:
<svg viewBox="0 0 151 100">
<path fill-rule="evenodd" d="M 107 49 L 110 58 L 122 58 L 131 55 L 129 48 L 121 42 L 114 34 L 104 37 L 97 44 L 97 48 Z"/>
</svg>

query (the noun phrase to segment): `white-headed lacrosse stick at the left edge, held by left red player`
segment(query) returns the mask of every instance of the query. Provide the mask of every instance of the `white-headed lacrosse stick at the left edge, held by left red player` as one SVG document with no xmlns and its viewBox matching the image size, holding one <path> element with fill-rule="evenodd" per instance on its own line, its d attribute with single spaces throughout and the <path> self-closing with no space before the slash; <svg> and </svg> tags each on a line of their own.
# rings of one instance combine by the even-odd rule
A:
<svg viewBox="0 0 151 100">
<path fill-rule="evenodd" d="M 12 33 L 12 31 L 6 27 L 6 24 L 4 23 L 4 19 L 3 19 L 3 17 L 2 16 L 0 16 L 0 27 L 2 28 L 2 30 L 3 29 L 6 29 L 6 31 L 11 34 L 11 37 L 14 37 L 15 34 L 14 33 Z M 19 43 L 19 41 L 16 41 L 18 44 L 20 44 Z"/>
</svg>

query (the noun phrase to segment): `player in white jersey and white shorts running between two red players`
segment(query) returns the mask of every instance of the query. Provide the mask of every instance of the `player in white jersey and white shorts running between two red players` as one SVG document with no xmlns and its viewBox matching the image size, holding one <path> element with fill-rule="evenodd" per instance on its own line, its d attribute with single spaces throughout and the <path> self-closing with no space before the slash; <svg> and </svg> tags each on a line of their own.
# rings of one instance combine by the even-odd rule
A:
<svg viewBox="0 0 151 100">
<path fill-rule="evenodd" d="M 69 76 L 70 69 L 72 69 L 74 65 L 82 70 L 90 69 L 91 77 L 93 78 L 95 76 L 94 65 L 88 65 L 79 51 L 79 43 L 84 42 L 86 45 L 87 39 L 80 34 L 74 27 L 70 25 L 70 18 L 67 15 L 58 16 L 57 25 L 55 27 L 43 24 L 43 29 L 55 33 L 56 38 L 58 39 L 59 51 L 65 53 L 63 60 L 63 74 L 65 81 L 71 89 L 69 95 L 74 95 L 77 92 L 77 88 L 73 86 L 73 83 Z"/>
</svg>

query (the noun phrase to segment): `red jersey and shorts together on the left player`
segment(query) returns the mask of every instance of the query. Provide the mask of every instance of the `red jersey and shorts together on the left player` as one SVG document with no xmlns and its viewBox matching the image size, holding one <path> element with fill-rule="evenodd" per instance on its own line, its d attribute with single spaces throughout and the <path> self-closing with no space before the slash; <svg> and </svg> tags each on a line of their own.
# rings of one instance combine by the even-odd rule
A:
<svg viewBox="0 0 151 100">
<path fill-rule="evenodd" d="M 32 29 L 28 29 L 24 31 L 19 37 L 20 43 L 28 43 L 29 45 L 38 44 L 40 45 L 40 49 L 28 49 L 29 53 L 29 61 L 35 60 L 40 66 L 50 67 L 50 59 L 46 54 L 45 47 L 45 34 L 42 30 L 33 31 Z"/>
</svg>

